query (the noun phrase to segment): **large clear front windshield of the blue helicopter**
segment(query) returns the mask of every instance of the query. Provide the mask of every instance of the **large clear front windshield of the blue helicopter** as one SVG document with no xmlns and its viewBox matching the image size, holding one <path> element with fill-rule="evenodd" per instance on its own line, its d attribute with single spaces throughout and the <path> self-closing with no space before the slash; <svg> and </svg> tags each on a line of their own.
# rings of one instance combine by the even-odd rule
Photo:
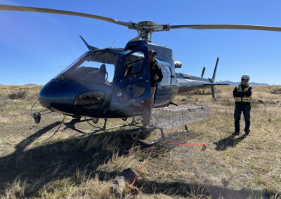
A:
<svg viewBox="0 0 281 199">
<path fill-rule="evenodd" d="M 117 53 L 103 51 L 85 53 L 56 78 L 111 86 L 118 60 Z"/>
</svg>

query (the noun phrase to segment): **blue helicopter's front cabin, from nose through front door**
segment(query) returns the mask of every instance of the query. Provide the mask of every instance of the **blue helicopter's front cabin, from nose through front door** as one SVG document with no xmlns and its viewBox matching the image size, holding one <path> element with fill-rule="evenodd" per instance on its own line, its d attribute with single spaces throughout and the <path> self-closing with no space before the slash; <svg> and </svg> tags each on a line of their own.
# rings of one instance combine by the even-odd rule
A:
<svg viewBox="0 0 281 199">
<path fill-rule="evenodd" d="M 56 111 L 99 117 L 104 116 L 104 106 L 110 104 L 107 115 L 119 116 L 122 107 L 134 106 L 150 97 L 146 49 L 90 50 L 44 85 L 39 102 Z"/>
</svg>

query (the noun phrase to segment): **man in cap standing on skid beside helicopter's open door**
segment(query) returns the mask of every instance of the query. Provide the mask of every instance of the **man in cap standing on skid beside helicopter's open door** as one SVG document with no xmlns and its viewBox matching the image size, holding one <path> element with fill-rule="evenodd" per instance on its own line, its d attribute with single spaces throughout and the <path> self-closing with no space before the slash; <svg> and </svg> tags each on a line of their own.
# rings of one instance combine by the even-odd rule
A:
<svg viewBox="0 0 281 199">
<path fill-rule="evenodd" d="M 150 128 L 151 111 L 153 107 L 154 95 L 157 82 L 162 81 L 163 74 L 159 67 L 155 55 L 157 53 L 150 49 L 148 50 L 148 61 L 150 63 L 150 91 L 151 97 L 146 99 L 143 104 L 143 128 Z"/>
</svg>

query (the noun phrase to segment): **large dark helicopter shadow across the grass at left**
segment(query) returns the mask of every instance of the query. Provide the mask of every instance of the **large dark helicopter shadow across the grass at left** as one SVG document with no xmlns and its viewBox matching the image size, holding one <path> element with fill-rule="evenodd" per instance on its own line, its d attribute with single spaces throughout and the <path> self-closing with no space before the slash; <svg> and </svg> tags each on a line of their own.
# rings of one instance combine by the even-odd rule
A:
<svg viewBox="0 0 281 199">
<path fill-rule="evenodd" d="M 98 167 L 106 165 L 114 154 L 126 155 L 136 146 L 136 142 L 124 142 L 132 140 L 128 135 L 131 130 L 117 130 L 46 143 L 26 150 L 35 139 L 59 124 L 60 122 L 55 122 L 38 130 L 17 144 L 14 153 L 0 158 L 0 194 L 13 181 L 18 180 L 22 184 L 27 180 L 27 184 L 34 186 L 32 193 L 27 196 L 39 196 L 37 191 L 51 181 L 75 179 L 77 170 L 86 171 L 86 175 L 90 177 L 96 177 L 98 174 L 100 180 L 110 180 L 118 173 L 107 172 L 106 169 L 98 170 Z M 146 151 L 151 148 L 141 146 L 140 149 L 141 156 L 146 157 Z M 174 149 L 174 146 L 159 144 L 154 154 L 166 153 L 171 149 Z"/>
</svg>

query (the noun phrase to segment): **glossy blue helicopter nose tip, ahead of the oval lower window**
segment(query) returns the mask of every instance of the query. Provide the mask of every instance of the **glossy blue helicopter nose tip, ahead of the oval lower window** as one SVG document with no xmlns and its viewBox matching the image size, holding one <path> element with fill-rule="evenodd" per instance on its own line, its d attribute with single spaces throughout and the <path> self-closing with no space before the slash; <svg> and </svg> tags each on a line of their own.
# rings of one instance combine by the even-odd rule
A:
<svg viewBox="0 0 281 199">
<path fill-rule="evenodd" d="M 79 92 L 86 90 L 87 88 L 79 83 L 53 79 L 41 88 L 38 99 L 43 107 L 52 111 L 72 113 L 74 98 Z"/>
</svg>

